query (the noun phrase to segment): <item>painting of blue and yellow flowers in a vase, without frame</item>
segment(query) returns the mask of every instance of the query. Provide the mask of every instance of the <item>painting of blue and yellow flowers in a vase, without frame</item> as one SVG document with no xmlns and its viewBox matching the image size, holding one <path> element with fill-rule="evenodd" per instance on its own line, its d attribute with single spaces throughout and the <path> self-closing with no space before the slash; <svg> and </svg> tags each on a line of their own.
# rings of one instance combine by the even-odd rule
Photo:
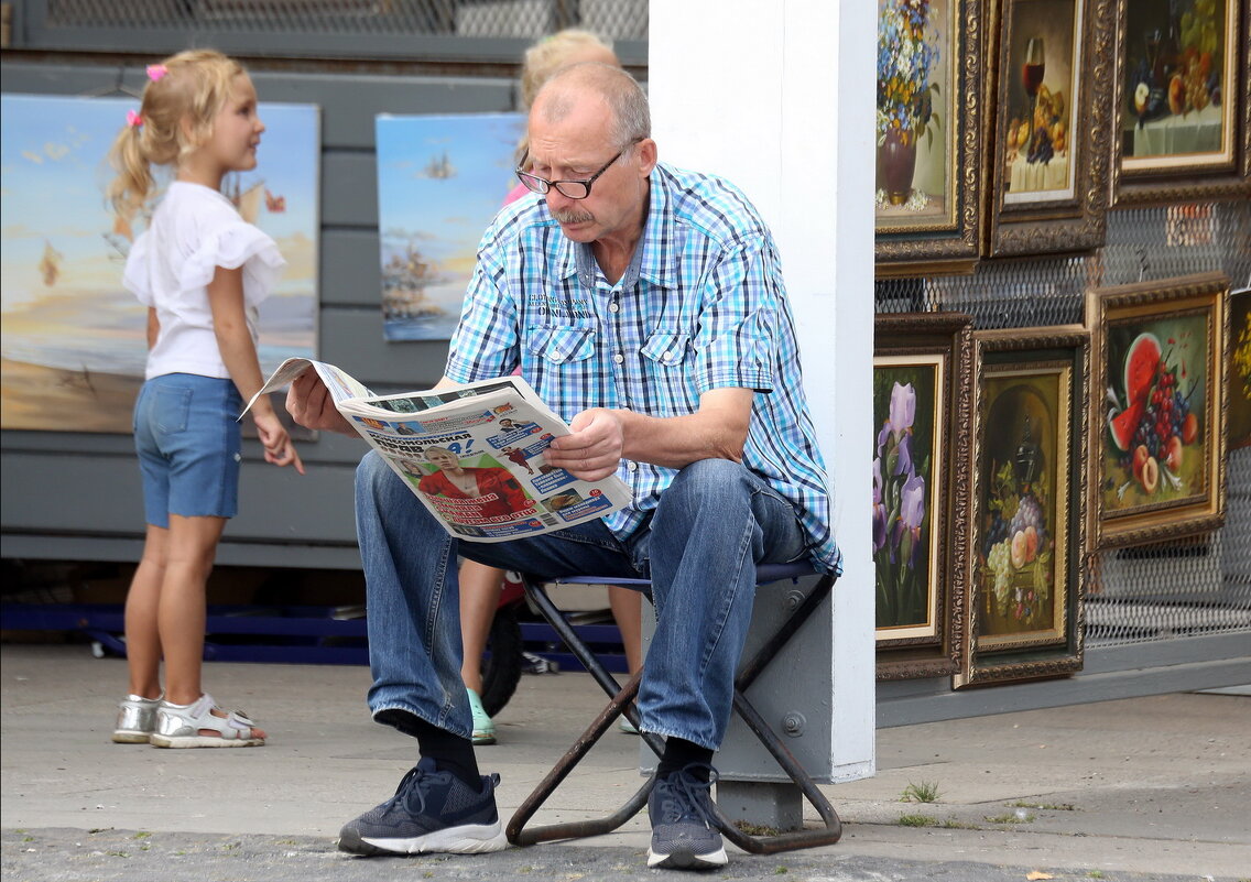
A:
<svg viewBox="0 0 1251 882">
<path fill-rule="evenodd" d="M 952 0 L 878 0 L 879 228 L 932 225 L 955 210 L 951 10 Z"/>
</svg>

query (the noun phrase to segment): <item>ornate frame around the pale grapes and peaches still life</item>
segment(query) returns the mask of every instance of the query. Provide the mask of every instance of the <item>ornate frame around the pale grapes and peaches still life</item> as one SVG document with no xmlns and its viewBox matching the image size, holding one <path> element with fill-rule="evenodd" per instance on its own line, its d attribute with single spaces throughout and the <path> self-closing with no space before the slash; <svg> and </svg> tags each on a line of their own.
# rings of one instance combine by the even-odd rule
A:
<svg viewBox="0 0 1251 882">
<path fill-rule="evenodd" d="M 1056 328 L 985 330 L 973 334 L 975 382 L 972 404 L 972 465 L 970 468 L 970 510 L 972 550 L 967 562 L 967 601 L 965 651 L 961 669 L 952 678 L 953 688 L 1011 681 L 1058 677 L 1080 671 L 1083 656 L 1083 616 L 1090 549 L 1087 543 L 1086 477 L 1088 397 L 1086 379 L 1090 364 L 1090 335 L 1080 325 Z M 991 621 L 995 575 L 987 563 L 986 547 L 992 528 L 990 487 L 985 477 L 990 468 L 988 434 L 1002 432 L 988 422 L 987 387 L 991 382 L 1018 377 L 1022 382 L 1042 379 L 1056 392 L 1056 452 L 1052 473 L 1055 487 L 1055 554 L 1052 567 L 1052 621 L 1050 627 L 1020 633 L 983 634 Z M 1001 393 L 1002 394 L 1002 393 Z M 993 537 L 990 537 L 993 540 Z M 1041 553 L 1041 549 L 1040 549 Z M 1017 577 L 1013 575 L 1013 579 Z M 1013 585 L 1013 591 L 1017 587 Z M 1028 587 L 1020 591 L 1027 596 Z M 1037 603 L 1037 599 L 1033 601 Z"/>
</svg>

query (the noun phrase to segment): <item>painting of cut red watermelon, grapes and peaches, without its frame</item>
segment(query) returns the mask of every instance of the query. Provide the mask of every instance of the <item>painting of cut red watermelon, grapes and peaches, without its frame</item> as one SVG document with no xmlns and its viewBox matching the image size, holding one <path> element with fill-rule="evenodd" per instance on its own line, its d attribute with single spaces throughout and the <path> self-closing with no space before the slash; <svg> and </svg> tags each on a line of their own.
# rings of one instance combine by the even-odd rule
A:
<svg viewBox="0 0 1251 882">
<path fill-rule="evenodd" d="M 1108 323 L 1105 517 L 1188 503 L 1208 488 L 1208 313 Z"/>
</svg>

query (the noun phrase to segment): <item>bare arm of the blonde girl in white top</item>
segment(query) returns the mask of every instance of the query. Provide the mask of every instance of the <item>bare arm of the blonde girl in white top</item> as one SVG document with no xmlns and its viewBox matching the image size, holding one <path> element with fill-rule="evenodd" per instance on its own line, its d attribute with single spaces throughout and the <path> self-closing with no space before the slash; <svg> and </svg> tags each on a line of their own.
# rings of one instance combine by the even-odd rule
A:
<svg viewBox="0 0 1251 882">
<path fill-rule="evenodd" d="M 218 266 L 209 283 L 209 307 L 213 310 L 213 332 L 218 338 L 218 350 L 230 372 L 230 379 L 243 397 L 250 402 L 265 384 L 260 375 L 256 347 L 248 333 L 248 318 L 243 297 L 243 266 L 226 269 Z M 304 463 L 295 452 L 295 444 L 274 413 L 268 397 L 256 399 L 251 410 L 260 443 L 265 447 L 265 462 L 274 465 L 295 465 L 304 474 Z"/>
</svg>

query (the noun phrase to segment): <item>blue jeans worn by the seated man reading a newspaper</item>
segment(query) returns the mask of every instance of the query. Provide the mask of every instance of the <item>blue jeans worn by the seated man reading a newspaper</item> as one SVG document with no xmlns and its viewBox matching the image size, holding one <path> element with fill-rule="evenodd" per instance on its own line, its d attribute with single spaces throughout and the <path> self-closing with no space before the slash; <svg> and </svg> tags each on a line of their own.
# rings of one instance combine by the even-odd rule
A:
<svg viewBox="0 0 1251 882">
<path fill-rule="evenodd" d="M 648 525 L 626 543 L 599 520 L 474 543 L 449 535 L 370 452 L 357 469 L 357 532 L 369 611 L 370 712 L 377 719 L 383 711 L 404 711 L 465 738 L 472 718 L 460 682 L 458 554 L 543 579 L 651 578 L 657 627 L 638 697 L 643 729 L 716 749 L 751 626 L 756 564 L 807 553 L 791 503 L 726 459 L 682 469 Z"/>
</svg>

